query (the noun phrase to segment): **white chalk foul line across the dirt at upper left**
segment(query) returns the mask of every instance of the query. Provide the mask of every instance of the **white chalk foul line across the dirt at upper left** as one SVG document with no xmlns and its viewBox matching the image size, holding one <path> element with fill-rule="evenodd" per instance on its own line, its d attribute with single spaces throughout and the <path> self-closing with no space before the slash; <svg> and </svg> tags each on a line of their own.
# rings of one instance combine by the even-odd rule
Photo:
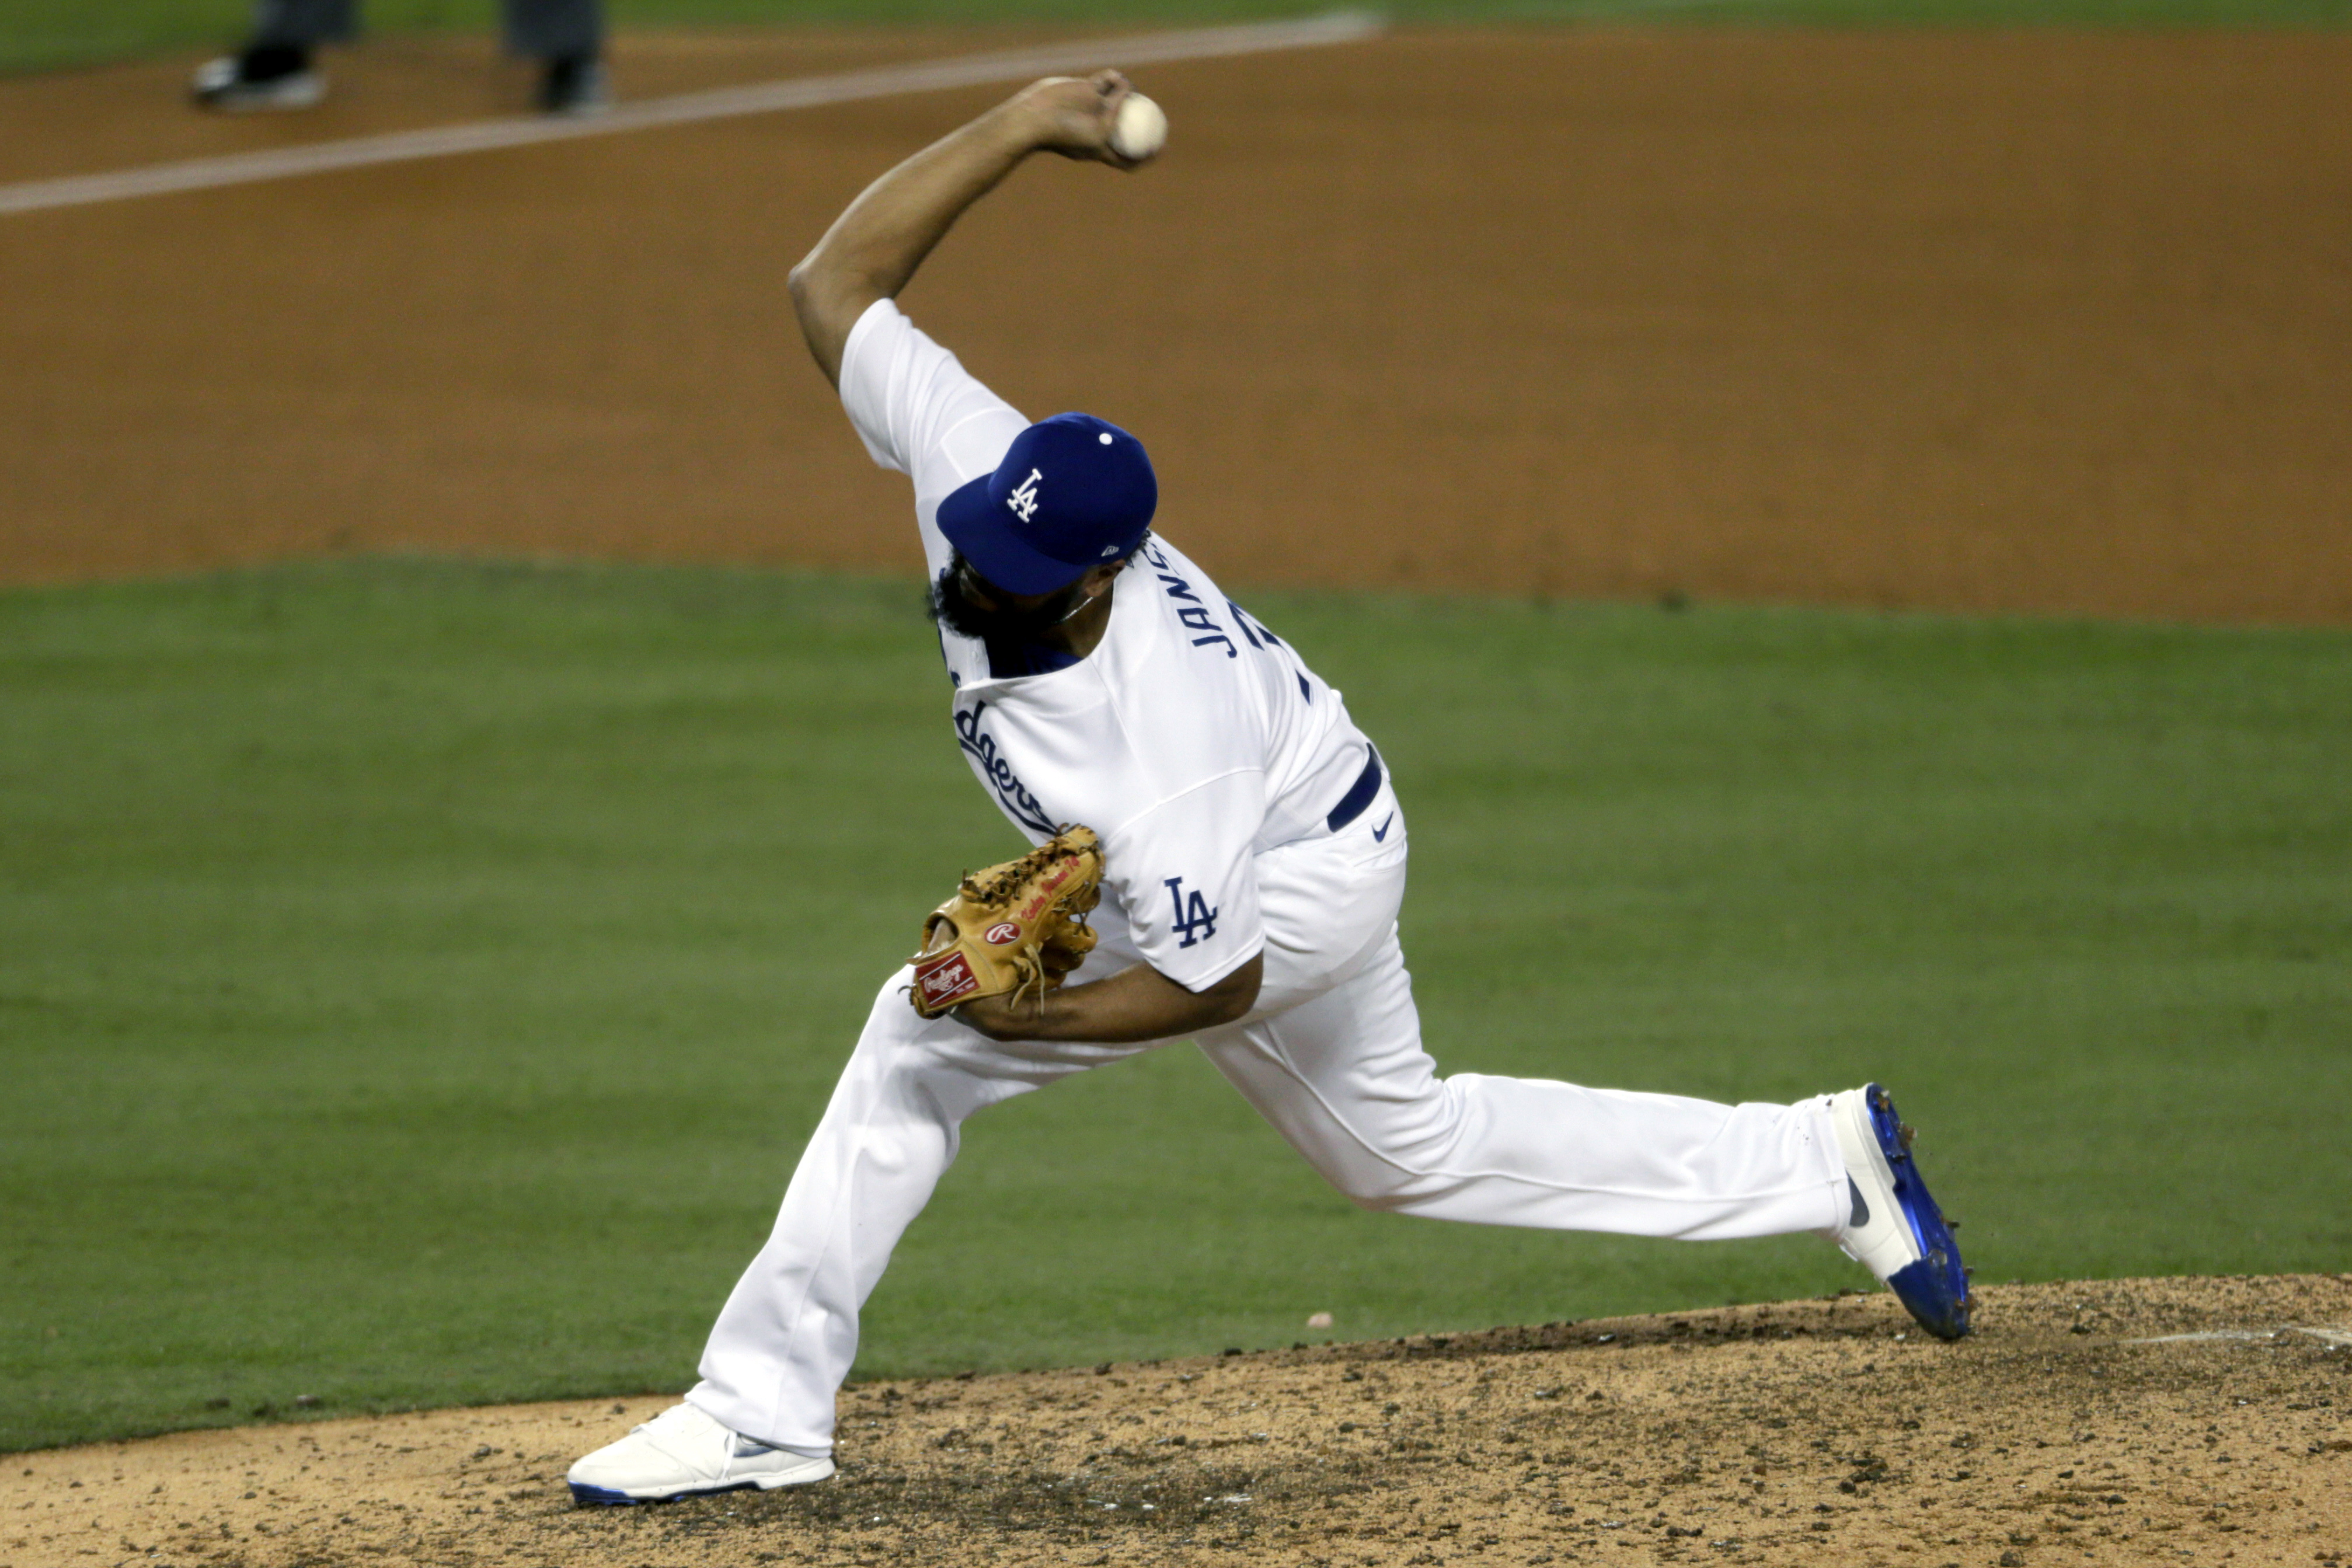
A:
<svg viewBox="0 0 2352 1568">
<path fill-rule="evenodd" d="M 1181 59 L 1265 54 L 1272 49 L 1312 49 L 1317 45 L 1357 42 L 1374 38 L 1381 31 L 1383 24 L 1378 16 L 1336 12 L 1329 16 L 1308 16 L 1303 21 L 1256 21 L 1230 28 L 1185 28 L 1178 33 L 1138 33 L 1134 38 L 1084 38 L 1028 49 L 960 54 L 901 66 L 873 66 L 868 71 L 842 71 L 837 75 L 760 82 L 755 87 L 717 87 L 710 92 L 684 92 L 668 99 L 644 99 L 640 103 L 621 103 L 588 120 L 546 115 L 477 120 L 470 125 L 442 125 L 421 132 L 393 132 L 386 136 L 315 141 L 301 148 L 270 148 L 266 153 L 193 158 L 186 162 L 115 169 L 108 174 L 35 179 L 16 186 L 0 186 L 0 214 L 87 207 L 92 202 L 125 202 L 141 195 L 172 195 L 179 190 L 252 186 L 266 179 L 294 179 L 299 174 L 327 174 L 334 169 L 365 169 L 386 162 L 414 162 L 419 158 L 452 158 L 456 153 L 492 153 L 501 148 L 539 146 L 546 141 L 576 141 L 581 136 L 619 136 L 621 132 L 647 132 L 663 125 L 696 125 L 703 120 L 731 120 L 739 115 L 769 115 L 786 108 L 889 99 L 908 92 L 938 92 L 946 87 L 976 87 L 983 82 L 1018 82 L 1033 75 L 1049 75 L 1054 71 L 1082 71 L 1091 66 L 1127 68 Z"/>
</svg>

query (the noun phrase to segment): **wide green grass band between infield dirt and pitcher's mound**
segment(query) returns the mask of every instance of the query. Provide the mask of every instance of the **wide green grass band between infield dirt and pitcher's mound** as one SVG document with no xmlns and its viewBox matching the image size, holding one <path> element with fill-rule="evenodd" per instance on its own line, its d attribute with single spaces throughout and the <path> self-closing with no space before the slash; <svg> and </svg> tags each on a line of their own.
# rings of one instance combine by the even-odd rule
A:
<svg viewBox="0 0 2352 1568">
<path fill-rule="evenodd" d="M 1884 1077 L 1987 1279 L 2352 1262 L 2352 635 L 1251 607 L 1395 764 L 1449 1070 Z M 0 1446 L 689 1382 L 1014 846 L 943 712 L 903 583 L 0 595 Z M 1176 1046 L 971 1124 L 861 1375 L 1856 1284 L 1359 1213 Z"/>
</svg>

